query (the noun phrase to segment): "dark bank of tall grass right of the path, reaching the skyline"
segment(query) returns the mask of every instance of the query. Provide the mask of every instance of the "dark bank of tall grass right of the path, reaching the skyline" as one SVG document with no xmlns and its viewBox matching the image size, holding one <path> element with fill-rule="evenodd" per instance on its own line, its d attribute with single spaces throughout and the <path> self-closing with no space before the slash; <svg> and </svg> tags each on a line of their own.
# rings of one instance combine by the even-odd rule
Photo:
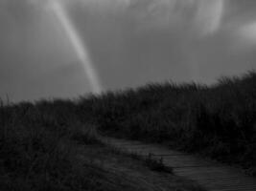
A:
<svg viewBox="0 0 256 191">
<path fill-rule="evenodd" d="M 81 120 L 109 135 L 162 142 L 239 165 L 256 175 L 256 73 L 196 83 L 151 84 L 87 96 Z"/>
</svg>

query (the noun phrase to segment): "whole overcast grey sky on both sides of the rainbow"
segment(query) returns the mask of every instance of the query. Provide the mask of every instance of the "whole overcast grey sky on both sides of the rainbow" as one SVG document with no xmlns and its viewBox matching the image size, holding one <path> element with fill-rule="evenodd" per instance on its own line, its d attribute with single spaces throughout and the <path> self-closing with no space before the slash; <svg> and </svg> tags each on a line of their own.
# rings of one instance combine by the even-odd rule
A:
<svg viewBox="0 0 256 191">
<path fill-rule="evenodd" d="M 92 91 L 51 13 L 54 0 L 0 1 L 0 96 Z M 256 68 L 255 0 L 59 0 L 103 90 L 169 79 L 212 83 Z"/>
</svg>

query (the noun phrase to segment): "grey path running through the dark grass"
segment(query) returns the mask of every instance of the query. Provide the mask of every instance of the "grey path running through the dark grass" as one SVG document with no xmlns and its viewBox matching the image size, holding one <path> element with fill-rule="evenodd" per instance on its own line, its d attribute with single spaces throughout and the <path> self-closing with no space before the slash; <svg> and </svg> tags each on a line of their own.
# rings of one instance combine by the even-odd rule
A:
<svg viewBox="0 0 256 191">
<path fill-rule="evenodd" d="M 140 141 L 118 138 L 104 138 L 104 141 L 130 153 L 141 156 L 151 154 L 156 159 L 163 159 L 165 165 L 174 168 L 175 175 L 196 180 L 211 191 L 256 191 L 255 178 L 244 175 L 239 169 L 212 160 L 200 159 L 161 145 Z"/>
</svg>

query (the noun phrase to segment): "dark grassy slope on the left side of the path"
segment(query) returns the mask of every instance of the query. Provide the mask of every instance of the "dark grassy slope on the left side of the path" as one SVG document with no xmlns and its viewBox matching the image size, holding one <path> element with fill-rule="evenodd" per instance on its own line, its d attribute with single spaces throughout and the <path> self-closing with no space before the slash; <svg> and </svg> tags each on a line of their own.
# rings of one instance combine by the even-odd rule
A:
<svg viewBox="0 0 256 191">
<path fill-rule="evenodd" d="M 1 191 L 202 190 L 171 171 L 159 173 L 159 161 L 105 146 L 77 109 L 61 100 L 2 104 Z"/>
</svg>

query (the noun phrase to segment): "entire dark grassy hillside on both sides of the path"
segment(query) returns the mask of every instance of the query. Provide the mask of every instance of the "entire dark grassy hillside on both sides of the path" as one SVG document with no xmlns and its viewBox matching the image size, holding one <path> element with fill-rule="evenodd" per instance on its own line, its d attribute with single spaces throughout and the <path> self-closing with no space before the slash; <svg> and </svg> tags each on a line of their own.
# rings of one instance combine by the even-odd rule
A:
<svg viewBox="0 0 256 191">
<path fill-rule="evenodd" d="M 2 102 L 0 190 L 139 189 L 137 181 L 120 180 L 118 173 L 130 177 L 129 170 L 105 169 L 110 164 L 128 169 L 126 161 L 137 166 L 138 160 L 120 154 L 122 163 L 97 132 L 158 142 L 243 167 L 255 176 L 256 73 L 222 77 L 212 86 L 166 82 L 76 100 Z M 145 177 L 150 170 L 143 172 L 136 171 Z M 198 189 L 173 175 L 168 179 L 174 190 Z"/>
</svg>

